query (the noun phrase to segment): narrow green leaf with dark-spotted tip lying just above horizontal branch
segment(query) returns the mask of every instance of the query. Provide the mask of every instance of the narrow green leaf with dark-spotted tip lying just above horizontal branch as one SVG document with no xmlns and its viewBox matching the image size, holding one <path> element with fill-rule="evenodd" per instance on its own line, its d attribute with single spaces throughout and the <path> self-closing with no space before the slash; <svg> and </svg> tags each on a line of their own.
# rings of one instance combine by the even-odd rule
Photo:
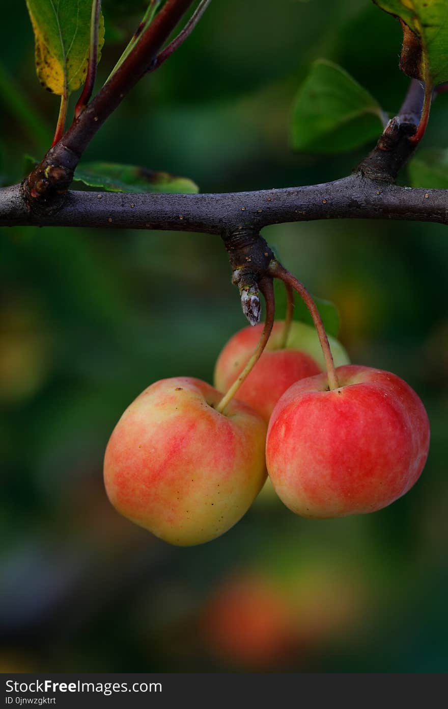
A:
<svg viewBox="0 0 448 709">
<path fill-rule="evenodd" d="M 168 172 L 154 172 L 136 165 L 113 162 L 85 162 L 76 169 L 74 179 L 109 192 L 193 194 L 199 191 L 197 185 L 187 177 L 175 177 Z"/>
</svg>

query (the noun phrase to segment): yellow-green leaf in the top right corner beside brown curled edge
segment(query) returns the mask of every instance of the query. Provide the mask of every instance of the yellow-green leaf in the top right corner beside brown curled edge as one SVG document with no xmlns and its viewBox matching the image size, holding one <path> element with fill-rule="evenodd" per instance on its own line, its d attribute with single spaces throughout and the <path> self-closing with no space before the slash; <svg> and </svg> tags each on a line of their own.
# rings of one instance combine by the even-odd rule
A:
<svg viewBox="0 0 448 709">
<path fill-rule="evenodd" d="M 433 86 L 448 81 L 447 0 L 373 1 L 382 10 L 399 17 L 415 35 L 413 40 L 403 28 L 403 71 Z"/>
</svg>

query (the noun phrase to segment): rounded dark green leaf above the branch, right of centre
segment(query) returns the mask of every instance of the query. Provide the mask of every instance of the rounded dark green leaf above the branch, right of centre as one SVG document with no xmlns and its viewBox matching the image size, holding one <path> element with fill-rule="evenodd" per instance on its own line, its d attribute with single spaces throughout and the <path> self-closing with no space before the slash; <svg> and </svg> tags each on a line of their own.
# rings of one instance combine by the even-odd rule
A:
<svg viewBox="0 0 448 709">
<path fill-rule="evenodd" d="M 378 138 L 384 114 L 344 69 L 317 60 L 297 94 L 292 147 L 302 152 L 343 152 Z"/>
</svg>

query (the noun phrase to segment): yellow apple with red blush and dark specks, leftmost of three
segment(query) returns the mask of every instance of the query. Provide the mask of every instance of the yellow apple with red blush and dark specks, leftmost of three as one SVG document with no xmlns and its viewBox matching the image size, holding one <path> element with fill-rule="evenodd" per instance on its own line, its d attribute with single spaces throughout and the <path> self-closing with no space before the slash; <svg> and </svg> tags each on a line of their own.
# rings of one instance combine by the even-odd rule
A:
<svg viewBox="0 0 448 709">
<path fill-rule="evenodd" d="M 266 479 L 263 419 L 200 379 L 162 379 L 115 426 L 104 459 L 108 498 L 122 515 L 178 546 L 219 537 Z"/>
</svg>

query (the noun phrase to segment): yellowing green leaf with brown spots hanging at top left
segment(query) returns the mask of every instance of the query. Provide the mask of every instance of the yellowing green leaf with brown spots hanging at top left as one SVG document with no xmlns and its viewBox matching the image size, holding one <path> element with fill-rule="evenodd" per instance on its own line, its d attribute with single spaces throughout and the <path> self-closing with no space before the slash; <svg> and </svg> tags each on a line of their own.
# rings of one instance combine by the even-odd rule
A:
<svg viewBox="0 0 448 709">
<path fill-rule="evenodd" d="M 63 96 L 84 84 L 90 49 L 92 0 L 26 0 L 35 37 L 38 79 Z M 98 61 L 104 20 L 98 29 Z"/>
</svg>

